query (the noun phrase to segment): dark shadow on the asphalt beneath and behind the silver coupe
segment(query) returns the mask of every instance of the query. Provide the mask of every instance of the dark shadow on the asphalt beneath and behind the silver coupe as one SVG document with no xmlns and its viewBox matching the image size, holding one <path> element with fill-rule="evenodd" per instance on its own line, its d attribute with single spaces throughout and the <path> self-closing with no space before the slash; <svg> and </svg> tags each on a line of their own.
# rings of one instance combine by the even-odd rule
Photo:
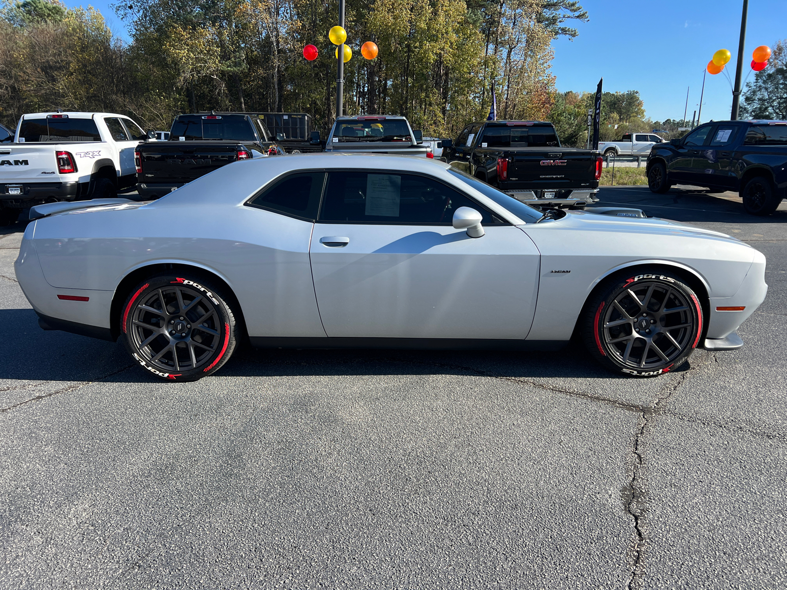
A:
<svg viewBox="0 0 787 590">
<path fill-rule="evenodd" d="M 42 330 L 31 309 L 0 310 L 0 326 L 0 379 L 89 382 L 111 376 L 113 382 L 159 382 L 142 367 L 135 367 L 120 341 Z M 688 367 L 687 364 L 682 369 Z M 121 371 L 124 368 L 128 370 Z M 246 345 L 238 348 L 215 378 L 386 374 L 627 379 L 604 370 L 581 344 L 574 342 L 559 352 L 285 349 Z"/>
</svg>

